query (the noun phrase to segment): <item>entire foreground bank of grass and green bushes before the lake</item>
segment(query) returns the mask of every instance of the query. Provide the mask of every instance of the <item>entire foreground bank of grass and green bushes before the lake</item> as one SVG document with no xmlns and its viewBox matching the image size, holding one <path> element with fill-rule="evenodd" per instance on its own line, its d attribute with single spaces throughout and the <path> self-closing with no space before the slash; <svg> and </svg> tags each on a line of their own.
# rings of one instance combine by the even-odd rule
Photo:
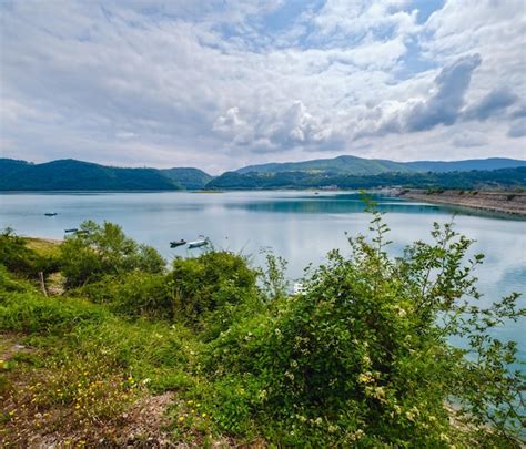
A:
<svg viewBox="0 0 526 449">
<path fill-rule="evenodd" d="M 272 253 L 166 266 L 80 227 L 43 253 L 0 235 L 2 446 L 519 447 L 525 379 L 490 330 L 525 310 L 477 305 L 483 256 L 451 225 L 392 258 L 374 213 L 296 295 Z"/>
</svg>

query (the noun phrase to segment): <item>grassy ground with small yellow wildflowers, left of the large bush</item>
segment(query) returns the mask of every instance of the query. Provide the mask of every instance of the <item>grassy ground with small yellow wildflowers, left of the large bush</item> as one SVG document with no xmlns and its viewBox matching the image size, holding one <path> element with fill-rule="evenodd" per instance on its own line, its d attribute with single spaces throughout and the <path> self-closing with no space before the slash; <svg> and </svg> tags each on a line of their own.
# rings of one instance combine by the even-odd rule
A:
<svg viewBox="0 0 526 449">
<path fill-rule="evenodd" d="M 45 436 L 120 445 L 130 409 L 200 381 L 199 344 L 182 326 L 127 322 L 104 306 L 29 292 L 3 297 L 0 329 L 9 331 L 0 335 L 3 446 L 43 442 Z M 16 344 L 24 350 L 12 350 Z"/>
</svg>

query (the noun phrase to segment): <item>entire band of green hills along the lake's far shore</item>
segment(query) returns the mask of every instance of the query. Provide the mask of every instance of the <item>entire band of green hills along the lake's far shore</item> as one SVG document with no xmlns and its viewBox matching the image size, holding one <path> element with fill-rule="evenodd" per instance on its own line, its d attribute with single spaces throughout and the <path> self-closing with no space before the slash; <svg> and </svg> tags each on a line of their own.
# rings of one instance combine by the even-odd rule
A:
<svg viewBox="0 0 526 449">
<path fill-rule="evenodd" d="M 0 159 L 0 191 L 173 191 L 398 186 L 526 186 L 526 161 L 394 162 L 356 156 L 251 165 L 219 177 L 192 167 L 120 169 L 63 160 L 44 164 Z"/>
</svg>

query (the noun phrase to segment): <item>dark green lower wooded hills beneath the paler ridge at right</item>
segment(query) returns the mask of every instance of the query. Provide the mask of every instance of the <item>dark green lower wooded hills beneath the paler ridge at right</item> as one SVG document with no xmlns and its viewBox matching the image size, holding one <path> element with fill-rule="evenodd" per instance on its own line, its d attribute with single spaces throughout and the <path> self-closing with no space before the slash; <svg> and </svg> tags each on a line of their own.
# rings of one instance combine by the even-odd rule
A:
<svg viewBox="0 0 526 449">
<path fill-rule="evenodd" d="M 227 172 L 212 180 L 208 188 L 377 188 L 404 186 L 414 188 L 514 188 L 526 186 L 526 166 L 493 171 L 442 173 L 382 173 L 348 175 L 310 172 L 246 173 Z"/>
</svg>

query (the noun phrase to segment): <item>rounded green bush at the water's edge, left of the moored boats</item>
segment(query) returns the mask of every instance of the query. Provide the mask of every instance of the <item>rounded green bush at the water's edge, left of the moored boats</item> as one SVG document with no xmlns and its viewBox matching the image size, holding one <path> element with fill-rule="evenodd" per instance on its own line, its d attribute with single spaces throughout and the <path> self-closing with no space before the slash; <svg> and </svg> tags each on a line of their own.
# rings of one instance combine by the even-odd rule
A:
<svg viewBox="0 0 526 449">
<path fill-rule="evenodd" d="M 80 229 L 60 246 L 60 266 L 68 287 L 135 269 L 162 273 L 165 268 L 165 261 L 154 248 L 138 245 L 115 224 L 104 222 L 98 225 L 88 221 Z"/>
</svg>

